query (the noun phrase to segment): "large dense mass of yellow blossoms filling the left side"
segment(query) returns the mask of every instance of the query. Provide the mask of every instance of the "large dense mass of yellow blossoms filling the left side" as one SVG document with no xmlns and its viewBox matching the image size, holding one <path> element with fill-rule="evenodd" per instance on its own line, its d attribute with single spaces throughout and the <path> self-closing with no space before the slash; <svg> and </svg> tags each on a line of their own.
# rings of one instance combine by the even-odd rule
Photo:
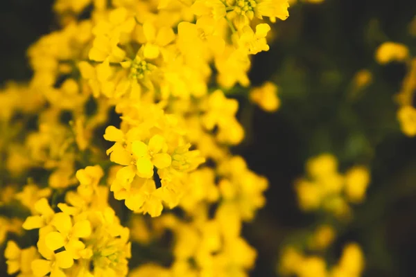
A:
<svg viewBox="0 0 416 277">
<path fill-rule="evenodd" d="M 170 232 L 171 265 L 139 260 L 132 276 L 247 276 L 256 251 L 241 224 L 268 181 L 229 150 L 244 130 L 227 92 L 248 91 L 250 57 L 269 50 L 264 19 L 286 19 L 288 1 L 57 0 L 54 10 L 62 28 L 28 49 L 33 78 L 0 93 L 0 206 L 16 213 L 0 217 L 8 274 L 126 276 L 131 247 Z M 277 87 L 250 100 L 276 111 Z"/>
</svg>

